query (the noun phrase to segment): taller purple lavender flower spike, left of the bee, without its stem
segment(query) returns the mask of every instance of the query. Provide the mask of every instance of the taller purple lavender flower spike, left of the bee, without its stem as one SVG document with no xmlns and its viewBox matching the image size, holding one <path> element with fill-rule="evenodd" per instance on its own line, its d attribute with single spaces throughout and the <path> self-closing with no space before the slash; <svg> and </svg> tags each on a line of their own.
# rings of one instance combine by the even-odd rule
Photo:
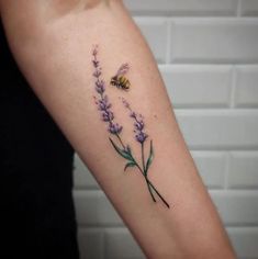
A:
<svg viewBox="0 0 258 259">
<path fill-rule="evenodd" d="M 109 123 L 108 131 L 111 134 L 117 135 L 122 132 L 123 127 L 119 125 L 117 123 L 114 123 L 114 113 L 111 111 L 112 105 L 109 102 L 108 95 L 104 94 L 105 83 L 102 79 L 100 79 L 100 76 L 102 75 L 102 72 L 101 72 L 100 63 L 97 59 L 97 55 L 98 55 L 97 47 L 98 46 L 94 46 L 94 49 L 92 50 L 92 55 L 93 55 L 92 64 L 94 67 L 94 72 L 92 75 L 96 78 L 94 85 L 96 85 L 96 91 L 99 93 L 99 99 L 94 97 L 94 101 L 96 101 L 96 104 L 98 105 L 98 109 L 101 111 L 102 121 Z"/>
</svg>

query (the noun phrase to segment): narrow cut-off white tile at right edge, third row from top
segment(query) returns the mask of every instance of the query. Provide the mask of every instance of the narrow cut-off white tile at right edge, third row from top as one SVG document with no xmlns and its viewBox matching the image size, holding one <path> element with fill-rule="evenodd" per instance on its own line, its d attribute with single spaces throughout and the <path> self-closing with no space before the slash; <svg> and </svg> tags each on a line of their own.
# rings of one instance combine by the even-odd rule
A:
<svg viewBox="0 0 258 259">
<path fill-rule="evenodd" d="M 236 105 L 258 108 L 258 66 L 239 66 L 236 72 Z"/>
</svg>

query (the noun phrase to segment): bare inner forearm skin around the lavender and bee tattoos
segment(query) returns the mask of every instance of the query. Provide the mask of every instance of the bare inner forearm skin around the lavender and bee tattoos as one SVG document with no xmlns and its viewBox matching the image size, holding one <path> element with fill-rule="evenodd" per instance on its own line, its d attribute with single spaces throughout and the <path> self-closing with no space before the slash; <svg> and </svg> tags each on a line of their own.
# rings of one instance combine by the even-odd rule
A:
<svg viewBox="0 0 258 259">
<path fill-rule="evenodd" d="M 35 3 L 41 15 L 32 14 L 32 31 L 30 22 L 21 22 L 24 16 L 10 22 L 11 11 L 3 12 L 20 67 L 148 258 L 234 258 L 145 41 L 120 1 L 91 3 Z M 9 10 L 15 12 L 14 5 Z M 100 76 L 92 76 L 94 58 Z M 123 63 L 130 64 L 127 91 L 109 85 Z M 102 79 L 101 93 L 96 82 Z M 105 94 L 114 114 L 108 121 L 99 103 Z M 135 138 L 136 119 L 123 98 L 144 116 L 144 142 Z M 123 130 L 112 133 L 112 123 Z M 122 157 L 109 138 L 127 155 L 130 145 L 132 159 Z M 150 143 L 155 156 L 147 167 Z M 127 162 L 134 165 L 124 171 Z"/>
</svg>

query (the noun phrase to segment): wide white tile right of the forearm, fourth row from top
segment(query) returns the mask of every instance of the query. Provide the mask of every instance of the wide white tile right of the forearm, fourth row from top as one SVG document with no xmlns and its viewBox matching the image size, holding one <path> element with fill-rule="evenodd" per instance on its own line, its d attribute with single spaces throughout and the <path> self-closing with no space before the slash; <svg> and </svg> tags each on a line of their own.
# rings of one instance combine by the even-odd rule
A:
<svg viewBox="0 0 258 259">
<path fill-rule="evenodd" d="M 176 110 L 176 116 L 192 149 L 258 147 L 256 110 Z"/>
</svg>

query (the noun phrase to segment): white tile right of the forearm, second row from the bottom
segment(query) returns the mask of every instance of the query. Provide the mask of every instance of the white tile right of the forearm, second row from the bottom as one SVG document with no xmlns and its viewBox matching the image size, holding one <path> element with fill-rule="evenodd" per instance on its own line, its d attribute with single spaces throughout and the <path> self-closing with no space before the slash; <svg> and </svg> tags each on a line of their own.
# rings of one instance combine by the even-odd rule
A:
<svg viewBox="0 0 258 259">
<path fill-rule="evenodd" d="M 226 226 L 258 225 L 258 191 L 210 191 Z"/>
</svg>

